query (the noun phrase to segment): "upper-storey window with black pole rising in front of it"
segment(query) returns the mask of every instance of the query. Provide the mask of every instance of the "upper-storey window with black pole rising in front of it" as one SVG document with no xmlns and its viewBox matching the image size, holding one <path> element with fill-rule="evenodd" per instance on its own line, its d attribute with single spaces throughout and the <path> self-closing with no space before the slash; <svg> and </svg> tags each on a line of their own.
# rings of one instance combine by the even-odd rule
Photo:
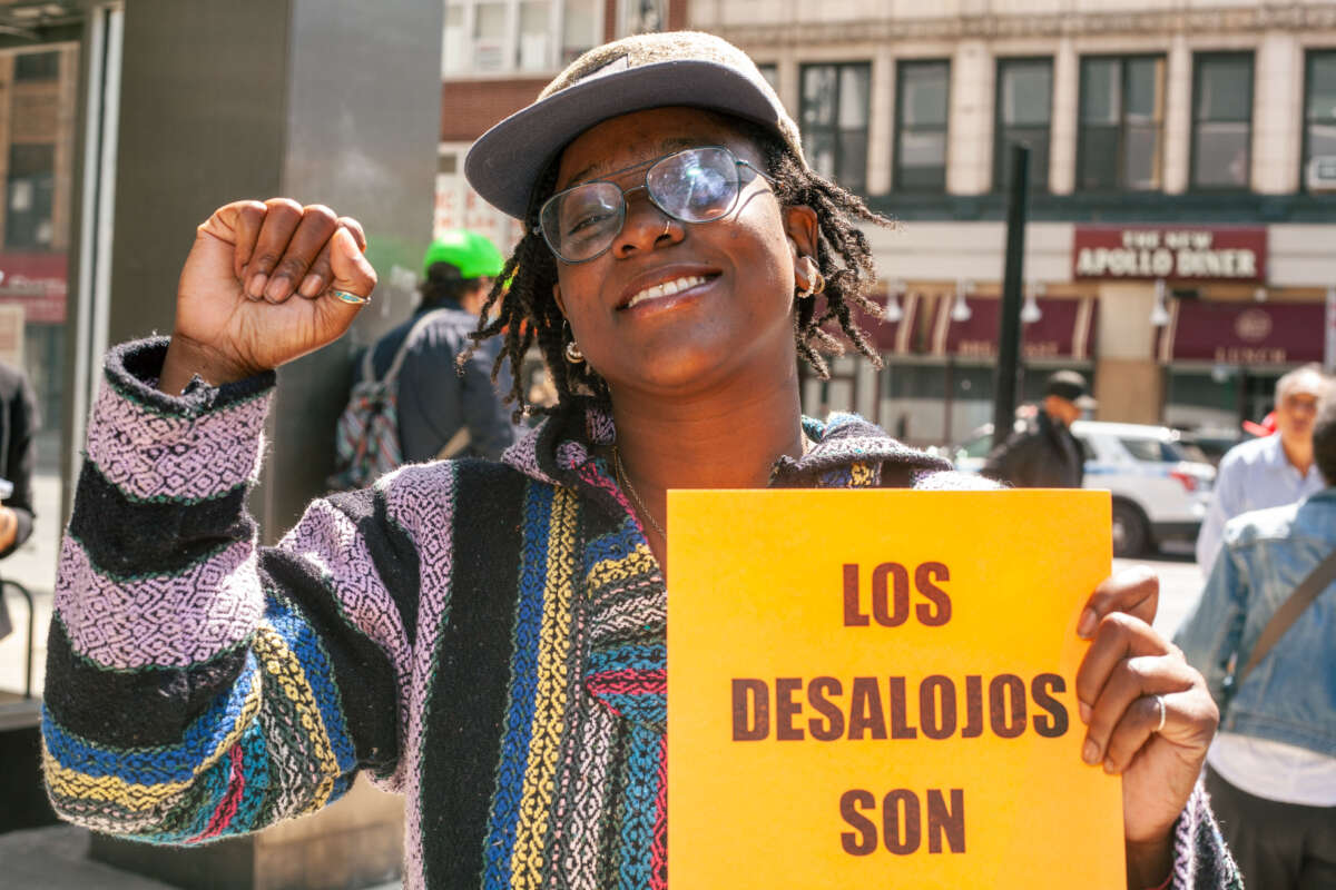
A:
<svg viewBox="0 0 1336 890">
<path fill-rule="evenodd" d="M 1011 145 L 1030 148 L 1030 188 L 1049 188 L 1049 125 L 1053 116 L 1053 60 L 999 59 L 993 185 L 1011 184 Z"/>
</svg>

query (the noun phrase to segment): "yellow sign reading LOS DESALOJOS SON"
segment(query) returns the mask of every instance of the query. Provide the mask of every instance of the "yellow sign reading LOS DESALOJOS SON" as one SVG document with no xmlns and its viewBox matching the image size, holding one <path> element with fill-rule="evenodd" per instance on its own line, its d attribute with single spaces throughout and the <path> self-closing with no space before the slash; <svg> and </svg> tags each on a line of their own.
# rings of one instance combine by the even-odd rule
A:
<svg viewBox="0 0 1336 890">
<path fill-rule="evenodd" d="M 1094 491 L 673 491 L 680 887 L 1116 887 L 1081 761 Z"/>
</svg>

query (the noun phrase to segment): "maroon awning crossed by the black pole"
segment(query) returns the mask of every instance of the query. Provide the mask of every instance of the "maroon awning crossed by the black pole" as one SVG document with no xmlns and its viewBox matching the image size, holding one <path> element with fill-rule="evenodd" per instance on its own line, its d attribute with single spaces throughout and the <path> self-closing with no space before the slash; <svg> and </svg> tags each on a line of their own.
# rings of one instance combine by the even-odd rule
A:
<svg viewBox="0 0 1336 890">
<path fill-rule="evenodd" d="M 955 322 L 951 319 L 955 295 L 943 294 L 937 300 L 933 355 L 995 360 L 1002 299 L 967 296 L 965 302 L 970 307 L 970 318 Z M 1096 298 L 1038 298 L 1035 302 L 1039 306 L 1039 320 L 1021 326 L 1021 356 L 1026 362 L 1089 362 L 1096 342 Z"/>
</svg>

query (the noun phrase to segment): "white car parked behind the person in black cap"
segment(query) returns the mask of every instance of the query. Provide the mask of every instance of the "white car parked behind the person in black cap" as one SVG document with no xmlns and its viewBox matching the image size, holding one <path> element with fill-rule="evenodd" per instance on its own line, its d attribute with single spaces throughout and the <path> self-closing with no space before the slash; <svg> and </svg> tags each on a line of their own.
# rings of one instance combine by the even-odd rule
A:
<svg viewBox="0 0 1336 890">
<path fill-rule="evenodd" d="M 1113 552 L 1136 556 L 1165 540 L 1194 540 L 1206 516 L 1216 468 L 1189 459 L 1169 427 L 1077 420 L 1071 434 L 1085 450 L 1085 487 L 1113 494 Z M 993 447 L 985 424 L 947 455 L 979 472 Z"/>
</svg>

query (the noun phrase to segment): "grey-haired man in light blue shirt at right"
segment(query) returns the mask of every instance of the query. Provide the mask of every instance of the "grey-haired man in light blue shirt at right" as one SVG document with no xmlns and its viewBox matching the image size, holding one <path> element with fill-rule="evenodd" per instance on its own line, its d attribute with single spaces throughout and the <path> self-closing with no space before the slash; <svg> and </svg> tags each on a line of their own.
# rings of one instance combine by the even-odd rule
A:
<svg viewBox="0 0 1336 890">
<path fill-rule="evenodd" d="M 1313 463 L 1313 416 L 1325 378 L 1305 364 L 1276 382 L 1276 435 L 1237 444 L 1220 460 L 1216 490 L 1197 532 L 1197 564 L 1210 571 L 1225 523 L 1240 514 L 1292 504 L 1324 487 Z"/>
</svg>

